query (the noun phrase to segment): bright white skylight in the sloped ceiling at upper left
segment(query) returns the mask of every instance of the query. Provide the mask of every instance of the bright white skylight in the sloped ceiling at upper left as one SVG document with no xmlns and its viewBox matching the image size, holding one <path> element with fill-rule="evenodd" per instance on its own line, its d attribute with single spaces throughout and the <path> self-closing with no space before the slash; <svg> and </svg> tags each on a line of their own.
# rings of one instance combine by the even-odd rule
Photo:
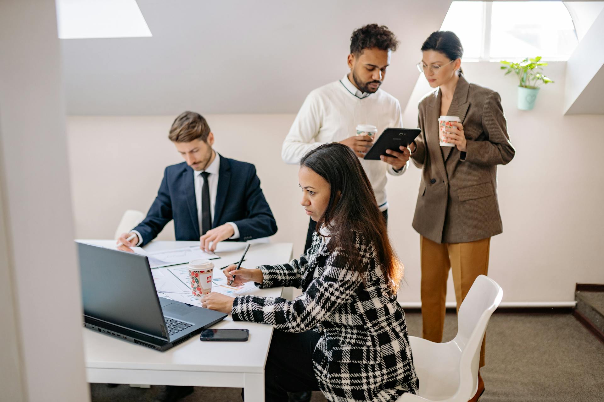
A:
<svg viewBox="0 0 604 402">
<path fill-rule="evenodd" d="M 149 37 L 136 0 L 56 0 L 60 39 Z"/>
</svg>

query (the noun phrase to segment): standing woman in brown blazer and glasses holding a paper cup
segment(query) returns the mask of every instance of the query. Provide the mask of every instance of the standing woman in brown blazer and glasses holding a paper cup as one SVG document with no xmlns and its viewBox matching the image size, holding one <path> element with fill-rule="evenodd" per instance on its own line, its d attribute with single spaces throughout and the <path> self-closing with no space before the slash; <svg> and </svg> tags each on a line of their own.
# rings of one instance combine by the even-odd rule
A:
<svg viewBox="0 0 604 402">
<path fill-rule="evenodd" d="M 417 64 L 436 88 L 419 103 L 422 134 L 410 146 L 413 163 L 422 168 L 413 228 L 420 234 L 423 338 L 433 342 L 442 341 L 449 268 L 458 309 L 475 278 L 487 274 L 490 237 L 502 231 L 497 165 L 515 153 L 499 94 L 466 81 L 462 53 L 454 33 L 437 31 L 423 43 Z M 439 145 L 441 115 L 460 118 L 445 136 L 454 147 Z M 484 391 L 478 378 L 472 401 Z"/>
</svg>

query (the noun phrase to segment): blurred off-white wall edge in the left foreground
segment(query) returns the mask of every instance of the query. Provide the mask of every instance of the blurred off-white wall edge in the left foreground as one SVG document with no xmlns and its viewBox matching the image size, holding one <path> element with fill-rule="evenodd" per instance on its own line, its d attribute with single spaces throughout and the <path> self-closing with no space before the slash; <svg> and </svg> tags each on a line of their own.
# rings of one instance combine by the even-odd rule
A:
<svg viewBox="0 0 604 402">
<path fill-rule="evenodd" d="M 89 400 L 54 1 L 1 1 L 0 55 L 0 400 Z"/>
</svg>

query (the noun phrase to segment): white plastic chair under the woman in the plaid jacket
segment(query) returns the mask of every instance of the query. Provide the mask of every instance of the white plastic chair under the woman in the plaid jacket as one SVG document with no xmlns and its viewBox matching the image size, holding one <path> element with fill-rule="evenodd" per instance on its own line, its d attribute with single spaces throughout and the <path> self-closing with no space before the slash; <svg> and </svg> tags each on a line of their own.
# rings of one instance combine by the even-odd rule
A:
<svg viewBox="0 0 604 402">
<path fill-rule="evenodd" d="M 484 332 L 501 297 L 501 287 L 491 278 L 479 275 L 461 303 L 457 335 L 452 341 L 438 344 L 409 337 L 419 392 L 404 394 L 397 402 L 467 402 L 474 396 Z"/>
</svg>

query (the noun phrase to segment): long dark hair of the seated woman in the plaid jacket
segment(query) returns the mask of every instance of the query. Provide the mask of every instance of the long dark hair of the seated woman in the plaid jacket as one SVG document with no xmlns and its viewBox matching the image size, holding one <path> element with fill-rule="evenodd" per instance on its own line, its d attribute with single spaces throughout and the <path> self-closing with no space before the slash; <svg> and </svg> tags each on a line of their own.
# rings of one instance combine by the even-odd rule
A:
<svg viewBox="0 0 604 402">
<path fill-rule="evenodd" d="M 361 259 L 356 237 L 361 235 L 375 248 L 379 262 L 385 268 L 388 288 L 396 294 L 403 277 L 403 266 L 394 254 L 386 221 L 355 152 L 341 143 L 327 143 L 304 155 L 300 166 L 312 169 L 331 187 L 327 209 L 316 222 L 316 231 L 321 225 L 331 231 L 328 250 L 342 250 L 342 254 L 353 262 L 350 264 L 352 269 L 364 276 L 367 267 L 356 263 Z"/>
</svg>

